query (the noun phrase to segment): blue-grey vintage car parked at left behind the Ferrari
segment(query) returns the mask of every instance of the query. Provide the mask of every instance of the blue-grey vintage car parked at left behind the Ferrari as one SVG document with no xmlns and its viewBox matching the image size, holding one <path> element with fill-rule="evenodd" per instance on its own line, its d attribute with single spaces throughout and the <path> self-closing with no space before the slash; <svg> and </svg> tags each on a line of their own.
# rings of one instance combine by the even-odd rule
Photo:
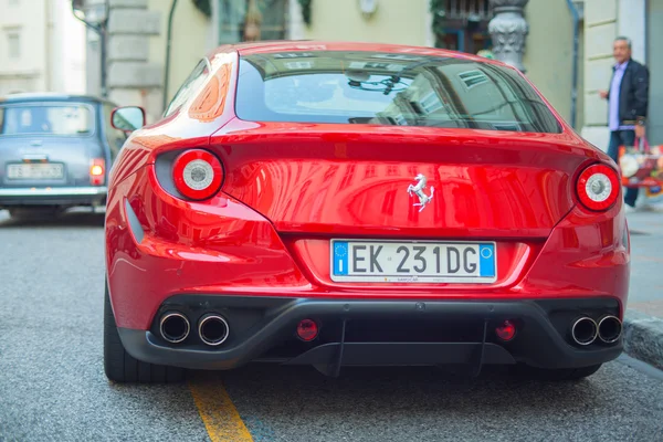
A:
<svg viewBox="0 0 663 442">
<path fill-rule="evenodd" d="M 0 98 L 0 209 L 15 217 L 105 206 L 108 170 L 126 139 L 108 124 L 115 107 L 83 95 Z"/>
</svg>

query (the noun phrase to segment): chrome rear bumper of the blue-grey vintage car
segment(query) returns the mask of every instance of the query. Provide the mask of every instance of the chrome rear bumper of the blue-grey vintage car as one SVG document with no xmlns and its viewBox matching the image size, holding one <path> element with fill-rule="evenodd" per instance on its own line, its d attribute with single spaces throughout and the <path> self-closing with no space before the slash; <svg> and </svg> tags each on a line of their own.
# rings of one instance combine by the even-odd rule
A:
<svg viewBox="0 0 663 442">
<path fill-rule="evenodd" d="M 64 206 L 101 203 L 104 187 L 0 188 L 0 207 Z"/>
</svg>

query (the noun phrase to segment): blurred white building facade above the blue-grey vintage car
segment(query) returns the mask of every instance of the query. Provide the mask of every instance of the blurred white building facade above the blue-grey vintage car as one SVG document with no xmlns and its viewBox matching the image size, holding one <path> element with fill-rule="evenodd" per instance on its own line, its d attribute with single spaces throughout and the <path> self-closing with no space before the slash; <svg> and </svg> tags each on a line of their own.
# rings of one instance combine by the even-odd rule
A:
<svg viewBox="0 0 663 442">
<path fill-rule="evenodd" d="M 0 0 L 0 96 L 85 93 L 85 30 L 71 0 Z"/>
</svg>

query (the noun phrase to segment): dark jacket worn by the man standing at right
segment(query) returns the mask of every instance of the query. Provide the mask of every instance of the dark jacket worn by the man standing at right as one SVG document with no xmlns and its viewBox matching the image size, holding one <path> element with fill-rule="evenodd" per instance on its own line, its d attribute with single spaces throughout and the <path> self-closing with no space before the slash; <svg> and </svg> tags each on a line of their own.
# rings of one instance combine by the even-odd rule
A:
<svg viewBox="0 0 663 442">
<path fill-rule="evenodd" d="M 614 66 L 612 67 L 614 76 Z M 612 84 L 612 82 L 611 82 Z M 610 99 L 610 95 L 608 95 Z M 646 118 L 649 101 L 649 70 L 634 60 L 629 60 L 619 92 L 620 125 L 634 125 Z"/>
</svg>

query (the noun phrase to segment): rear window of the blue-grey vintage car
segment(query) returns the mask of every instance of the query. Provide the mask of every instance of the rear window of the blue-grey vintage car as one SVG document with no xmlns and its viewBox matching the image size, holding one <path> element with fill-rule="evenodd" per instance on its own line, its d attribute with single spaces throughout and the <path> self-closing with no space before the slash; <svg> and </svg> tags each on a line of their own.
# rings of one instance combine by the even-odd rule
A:
<svg viewBox="0 0 663 442">
<path fill-rule="evenodd" d="M 1 135 L 90 135 L 93 113 L 84 104 L 0 106 Z"/>
</svg>

